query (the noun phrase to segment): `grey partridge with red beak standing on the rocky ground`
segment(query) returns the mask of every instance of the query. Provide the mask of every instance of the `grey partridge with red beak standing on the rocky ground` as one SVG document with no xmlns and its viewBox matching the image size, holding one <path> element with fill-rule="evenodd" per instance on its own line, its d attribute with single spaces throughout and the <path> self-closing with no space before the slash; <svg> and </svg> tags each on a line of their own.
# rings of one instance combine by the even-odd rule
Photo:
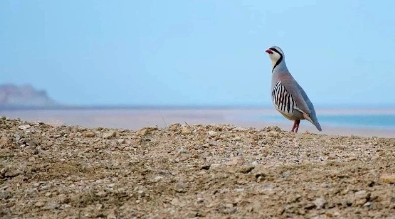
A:
<svg viewBox="0 0 395 219">
<path fill-rule="evenodd" d="M 301 120 L 322 131 L 312 102 L 287 68 L 284 52 L 278 46 L 271 46 L 265 52 L 272 61 L 272 103 L 285 118 L 294 121 L 291 132 L 298 132 Z"/>
</svg>

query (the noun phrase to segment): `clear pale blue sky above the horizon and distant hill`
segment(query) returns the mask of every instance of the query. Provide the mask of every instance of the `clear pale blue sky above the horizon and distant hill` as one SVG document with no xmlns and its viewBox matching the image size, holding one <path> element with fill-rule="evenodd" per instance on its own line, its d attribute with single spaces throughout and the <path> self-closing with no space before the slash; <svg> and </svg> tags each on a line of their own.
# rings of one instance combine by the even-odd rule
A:
<svg viewBox="0 0 395 219">
<path fill-rule="evenodd" d="M 395 104 L 395 3 L 1 0 L 0 82 L 66 104 L 266 105 L 277 45 L 315 105 Z"/>
</svg>

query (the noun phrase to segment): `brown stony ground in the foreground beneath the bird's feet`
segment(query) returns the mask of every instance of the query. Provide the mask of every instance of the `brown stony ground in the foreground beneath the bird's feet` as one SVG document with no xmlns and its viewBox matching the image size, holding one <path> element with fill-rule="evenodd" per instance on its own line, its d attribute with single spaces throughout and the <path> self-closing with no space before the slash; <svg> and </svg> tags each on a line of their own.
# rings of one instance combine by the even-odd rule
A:
<svg viewBox="0 0 395 219">
<path fill-rule="evenodd" d="M 395 218 L 395 139 L 0 118 L 1 218 Z"/>
</svg>

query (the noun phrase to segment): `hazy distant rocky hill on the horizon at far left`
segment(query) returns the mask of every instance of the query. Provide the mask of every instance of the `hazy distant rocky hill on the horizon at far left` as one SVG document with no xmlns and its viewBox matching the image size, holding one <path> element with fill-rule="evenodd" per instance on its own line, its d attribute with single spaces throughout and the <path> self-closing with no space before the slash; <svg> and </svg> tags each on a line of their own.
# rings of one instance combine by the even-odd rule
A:
<svg viewBox="0 0 395 219">
<path fill-rule="evenodd" d="M 60 104 L 48 97 L 45 90 L 36 90 L 29 84 L 0 84 L 0 109 L 56 106 Z"/>
</svg>

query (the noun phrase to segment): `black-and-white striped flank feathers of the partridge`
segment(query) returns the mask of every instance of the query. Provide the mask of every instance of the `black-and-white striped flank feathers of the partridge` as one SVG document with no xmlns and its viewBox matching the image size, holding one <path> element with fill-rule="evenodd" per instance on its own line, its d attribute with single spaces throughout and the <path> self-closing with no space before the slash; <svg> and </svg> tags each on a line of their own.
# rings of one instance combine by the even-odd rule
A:
<svg viewBox="0 0 395 219">
<path fill-rule="evenodd" d="M 292 95 L 278 81 L 272 89 L 272 101 L 277 110 L 285 114 L 293 114 L 296 103 Z"/>
</svg>

